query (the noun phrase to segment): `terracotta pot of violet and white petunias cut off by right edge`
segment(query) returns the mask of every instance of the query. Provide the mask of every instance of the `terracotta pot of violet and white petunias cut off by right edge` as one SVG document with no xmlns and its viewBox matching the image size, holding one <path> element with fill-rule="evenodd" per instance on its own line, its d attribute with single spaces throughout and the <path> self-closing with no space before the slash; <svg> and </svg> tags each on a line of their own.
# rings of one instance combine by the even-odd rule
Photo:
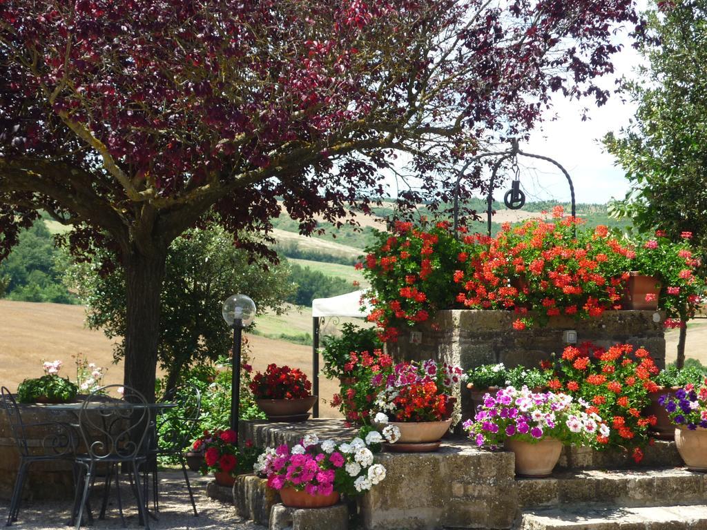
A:
<svg viewBox="0 0 707 530">
<path fill-rule="evenodd" d="M 699 386 L 686 384 L 661 401 L 675 425 L 675 444 L 685 465 L 707 471 L 707 377 Z"/>
</svg>

